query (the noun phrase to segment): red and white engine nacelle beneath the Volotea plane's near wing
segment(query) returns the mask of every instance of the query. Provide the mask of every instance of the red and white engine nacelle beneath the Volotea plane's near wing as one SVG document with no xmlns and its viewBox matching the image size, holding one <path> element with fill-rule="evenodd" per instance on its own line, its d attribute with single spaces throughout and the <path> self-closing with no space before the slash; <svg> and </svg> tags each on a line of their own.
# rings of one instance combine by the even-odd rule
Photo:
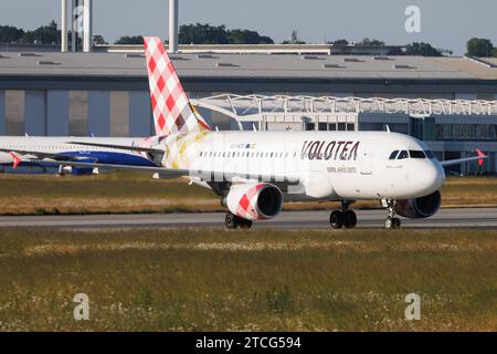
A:
<svg viewBox="0 0 497 354">
<path fill-rule="evenodd" d="M 232 186 L 224 202 L 234 215 L 247 220 L 272 219 L 282 211 L 283 192 L 271 184 Z"/>
</svg>

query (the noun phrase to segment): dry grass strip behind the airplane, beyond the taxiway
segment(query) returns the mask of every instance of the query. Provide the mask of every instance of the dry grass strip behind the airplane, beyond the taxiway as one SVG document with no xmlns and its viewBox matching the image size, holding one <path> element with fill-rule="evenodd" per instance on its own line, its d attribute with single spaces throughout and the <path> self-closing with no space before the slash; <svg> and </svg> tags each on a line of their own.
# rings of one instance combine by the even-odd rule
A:
<svg viewBox="0 0 497 354">
<path fill-rule="evenodd" d="M 55 177 L 0 175 L 0 215 L 222 211 L 211 190 L 188 179 L 152 179 L 148 174 Z M 497 178 L 450 178 L 443 207 L 497 206 Z M 337 204 L 289 202 L 286 210 L 329 210 Z M 378 208 L 359 201 L 355 208 Z"/>
</svg>

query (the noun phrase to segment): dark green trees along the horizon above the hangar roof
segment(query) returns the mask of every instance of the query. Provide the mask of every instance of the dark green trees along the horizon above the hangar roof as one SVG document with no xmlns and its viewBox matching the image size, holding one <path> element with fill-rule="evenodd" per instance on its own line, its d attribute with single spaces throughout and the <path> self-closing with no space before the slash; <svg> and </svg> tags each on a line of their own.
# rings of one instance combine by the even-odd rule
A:
<svg viewBox="0 0 497 354">
<path fill-rule="evenodd" d="M 70 32 L 71 33 L 71 32 Z M 71 38 L 71 37 L 70 37 Z M 256 31 L 242 29 L 226 29 L 225 25 L 210 25 L 209 23 L 183 24 L 179 28 L 178 42 L 180 44 L 274 44 L 272 38 L 261 35 Z M 32 31 L 24 31 L 12 25 L 0 25 L 0 43 L 30 43 L 30 44 L 60 44 L 61 30 L 52 20 L 47 25 L 39 27 Z M 334 45 L 350 45 L 347 40 L 339 39 L 328 42 Z M 115 44 L 142 44 L 140 35 L 124 35 Z M 293 31 L 288 40 L 282 44 L 306 44 L 298 38 L 297 31 Z M 385 43 L 380 40 L 364 38 L 353 45 L 383 46 Z M 451 51 L 446 52 L 452 54 Z M 405 51 L 399 54 L 442 56 L 442 50 L 432 46 L 430 43 L 415 42 L 408 44 Z M 467 56 L 497 56 L 497 48 L 490 40 L 472 38 L 466 43 Z"/>
</svg>

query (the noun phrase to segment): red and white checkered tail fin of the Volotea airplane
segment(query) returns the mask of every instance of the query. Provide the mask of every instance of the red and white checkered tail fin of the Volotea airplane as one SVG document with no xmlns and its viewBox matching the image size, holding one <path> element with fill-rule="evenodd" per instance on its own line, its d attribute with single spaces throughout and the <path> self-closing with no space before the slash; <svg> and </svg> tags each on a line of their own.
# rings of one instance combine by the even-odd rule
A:
<svg viewBox="0 0 497 354">
<path fill-rule="evenodd" d="M 144 44 L 156 135 L 209 129 L 191 106 L 160 38 L 145 37 Z"/>
</svg>

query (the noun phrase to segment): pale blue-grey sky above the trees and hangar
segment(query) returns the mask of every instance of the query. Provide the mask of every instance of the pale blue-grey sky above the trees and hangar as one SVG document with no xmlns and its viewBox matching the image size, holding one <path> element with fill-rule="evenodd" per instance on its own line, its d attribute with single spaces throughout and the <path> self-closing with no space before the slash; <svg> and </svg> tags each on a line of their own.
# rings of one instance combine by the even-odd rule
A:
<svg viewBox="0 0 497 354">
<path fill-rule="evenodd" d="M 114 42 L 121 35 L 168 35 L 168 0 L 94 0 L 94 34 Z M 61 21 L 61 0 L 0 0 L 0 25 L 34 29 Z M 388 44 L 429 42 L 465 53 L 473 37 L 497 45 L 495 0 L 179 0 L 179 23 L 225 24 L 268 35 L 276 42 L 298 38 L 310 43 L 368 37 Z M 405 9 L 421 10 L 421 32 L 405 31 Z"/>
</svg>

